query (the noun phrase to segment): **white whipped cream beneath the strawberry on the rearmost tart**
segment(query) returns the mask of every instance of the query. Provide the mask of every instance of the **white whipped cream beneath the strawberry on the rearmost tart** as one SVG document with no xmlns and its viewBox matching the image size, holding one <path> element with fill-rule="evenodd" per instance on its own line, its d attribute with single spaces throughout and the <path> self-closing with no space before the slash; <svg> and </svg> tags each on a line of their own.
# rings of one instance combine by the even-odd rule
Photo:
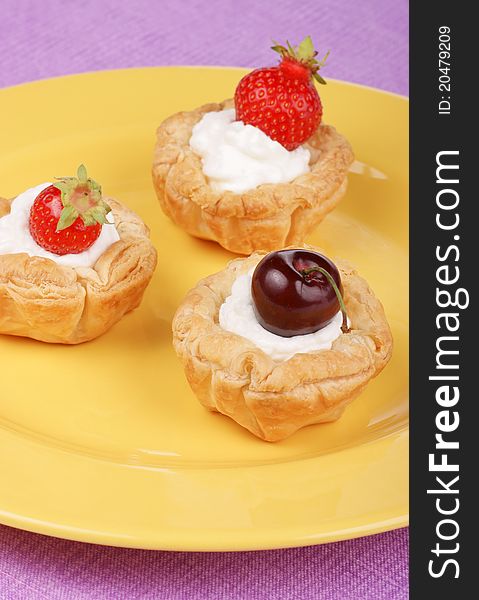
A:
<svg viewBox="0 0 479 600">
<path fill-rule="evenodd" d="M 310 152 L 288 151 L 253 125 L 235 121 L 234 109 L 206 113 L 194 127 L 191 149 L 215 191 L 239 194 L 263 183 L 288 183 L 309 171 Z"/>
</svg>

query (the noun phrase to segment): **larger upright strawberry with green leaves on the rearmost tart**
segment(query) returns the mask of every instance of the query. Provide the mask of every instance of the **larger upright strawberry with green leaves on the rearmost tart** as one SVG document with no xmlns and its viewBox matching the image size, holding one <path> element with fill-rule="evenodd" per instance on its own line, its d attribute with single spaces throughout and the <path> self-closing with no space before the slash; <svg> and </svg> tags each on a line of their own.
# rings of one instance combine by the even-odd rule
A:
<svg viewBox="0 0 479 600">
<path fill-rule="evenodd" d="M 321 62 L 308 35 L 296 48 L 275 43 L 272 50 L 282 57 L 276 67 L 248 73 L 235 92 L 236 118 L 261 129 L 287 150 L 294 150 L 308 140 L 321 122 L 323 108 L 313 78 L 326 83 L 319 75 L 328 54 Z"/>
</svg>

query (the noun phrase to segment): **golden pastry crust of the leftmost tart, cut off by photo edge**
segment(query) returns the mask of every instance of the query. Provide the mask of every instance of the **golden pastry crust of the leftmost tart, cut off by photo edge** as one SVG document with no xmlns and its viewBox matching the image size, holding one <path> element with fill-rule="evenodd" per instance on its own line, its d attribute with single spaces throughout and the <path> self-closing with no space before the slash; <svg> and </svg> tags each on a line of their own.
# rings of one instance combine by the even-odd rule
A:
<svg viewBox="0 0 479 600">
<path fill-rule="evenodd" d="M 117 200 L 106 200 L 120 240 L 92 268 L 0 254 L 0 334 L 79 344 L 102 335 L 140 304 L 156 250 L 141 219 Z M 0 217 L 10 204 L 0 198 Z"/>
</svg>

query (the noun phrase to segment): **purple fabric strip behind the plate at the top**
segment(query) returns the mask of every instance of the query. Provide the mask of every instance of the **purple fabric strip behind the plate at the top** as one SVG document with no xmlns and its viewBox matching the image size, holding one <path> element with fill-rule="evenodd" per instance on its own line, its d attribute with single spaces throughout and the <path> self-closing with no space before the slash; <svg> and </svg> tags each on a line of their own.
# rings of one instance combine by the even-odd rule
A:
<svg viewBox="0 0 479 600">
<path fill-rule="evenodd" d="M 0 86 L 97 69 L 272 62 L 310 33 L 325 76 L 407 94 L 407 0 L 0 0 Z"/>
</svg>

